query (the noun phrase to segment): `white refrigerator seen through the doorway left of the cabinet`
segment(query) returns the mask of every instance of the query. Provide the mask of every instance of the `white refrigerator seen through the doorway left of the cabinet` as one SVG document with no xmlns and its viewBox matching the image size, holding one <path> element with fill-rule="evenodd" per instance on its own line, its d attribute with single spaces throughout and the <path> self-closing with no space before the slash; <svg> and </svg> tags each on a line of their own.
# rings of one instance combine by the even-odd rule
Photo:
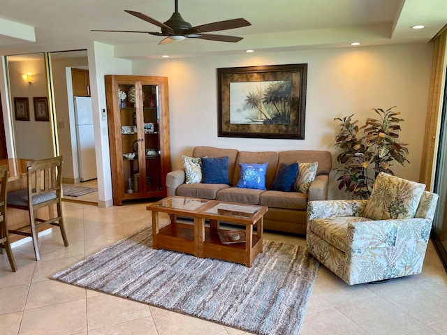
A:
<svg viewBox="0 0 447 335">
<path fill-rule="evenodd" d="M 95 136 L 91 98 L 75 96 L 76 140 L 81 181 L 96 178 Z"/>
</svg>

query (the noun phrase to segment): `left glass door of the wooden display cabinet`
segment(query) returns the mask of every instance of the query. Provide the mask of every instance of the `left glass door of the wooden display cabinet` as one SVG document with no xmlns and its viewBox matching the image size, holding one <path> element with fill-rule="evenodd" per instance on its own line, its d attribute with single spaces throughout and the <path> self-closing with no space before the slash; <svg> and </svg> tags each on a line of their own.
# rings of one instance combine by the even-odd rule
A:
<svg viewBox="0 0 447 335">
<path fill-rule="evenodd" d="M 139 156 L 138 124 L 135 107 L 135 85 L 119 84 L 119 114 L 121 121 L 121 142 L 123 159 L 124 193 L 138 193 Z"/>
</svg>

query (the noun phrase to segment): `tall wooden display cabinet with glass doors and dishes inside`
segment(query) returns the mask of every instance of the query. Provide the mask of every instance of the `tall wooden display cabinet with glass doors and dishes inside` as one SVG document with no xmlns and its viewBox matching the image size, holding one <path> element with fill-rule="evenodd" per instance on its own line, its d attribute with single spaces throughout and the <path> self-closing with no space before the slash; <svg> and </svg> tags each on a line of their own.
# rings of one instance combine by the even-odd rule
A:
<svg viewBox="0 0 447 335">
<path fill-rule="evenodd" d="M 106 75 L 113 204 L 166 197 L 168 78 Z"/>
</svg>

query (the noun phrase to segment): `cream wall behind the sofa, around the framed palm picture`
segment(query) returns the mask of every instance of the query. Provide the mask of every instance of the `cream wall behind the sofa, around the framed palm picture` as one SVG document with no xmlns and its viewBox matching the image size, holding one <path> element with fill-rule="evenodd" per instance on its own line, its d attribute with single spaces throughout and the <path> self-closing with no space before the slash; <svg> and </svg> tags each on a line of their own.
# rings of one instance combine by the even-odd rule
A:
<svg viewBox="0 0 447 335">
<path fill-rule="evenodd" d="M 308 64 L 305 140 L 217 137 L 217 68 L 302 63 Z M 336 163 L 333 144 L 339 123 L 333 119 L 355 114 L 363 124 L 375 117 L 372 108 L 396 105 L 405 119 L 400 140 L 409 142 L 411 163 L 393 170 L 417 181 L 431 64 L 432 45 L 413 44 L 133 61 L 132 73 L 168 77 L 173 170 L 182 168 L 180 156 L 190 155 L 196 145 L 246 151 L 329 150 Z M 349 196 L 338 191 L 331 175 L 329 198 Z"/>
</svg>

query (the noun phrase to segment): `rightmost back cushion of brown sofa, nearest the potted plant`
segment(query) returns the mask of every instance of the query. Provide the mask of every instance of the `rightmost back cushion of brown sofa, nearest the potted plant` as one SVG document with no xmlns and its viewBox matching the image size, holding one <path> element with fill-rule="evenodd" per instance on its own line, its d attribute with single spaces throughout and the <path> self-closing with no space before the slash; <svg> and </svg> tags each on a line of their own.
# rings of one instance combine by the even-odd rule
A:
<svg viewBox="0 0 447 335">
<path fill-rule="evenodd" d="M 281 163 L 314 163 L 318 162 L 318 174 L 329 174 L 332 169 L 332 155 L 329 151 L 319 150 L 289 150 L 278 153 L 278 165 Z"/>
</svg>

